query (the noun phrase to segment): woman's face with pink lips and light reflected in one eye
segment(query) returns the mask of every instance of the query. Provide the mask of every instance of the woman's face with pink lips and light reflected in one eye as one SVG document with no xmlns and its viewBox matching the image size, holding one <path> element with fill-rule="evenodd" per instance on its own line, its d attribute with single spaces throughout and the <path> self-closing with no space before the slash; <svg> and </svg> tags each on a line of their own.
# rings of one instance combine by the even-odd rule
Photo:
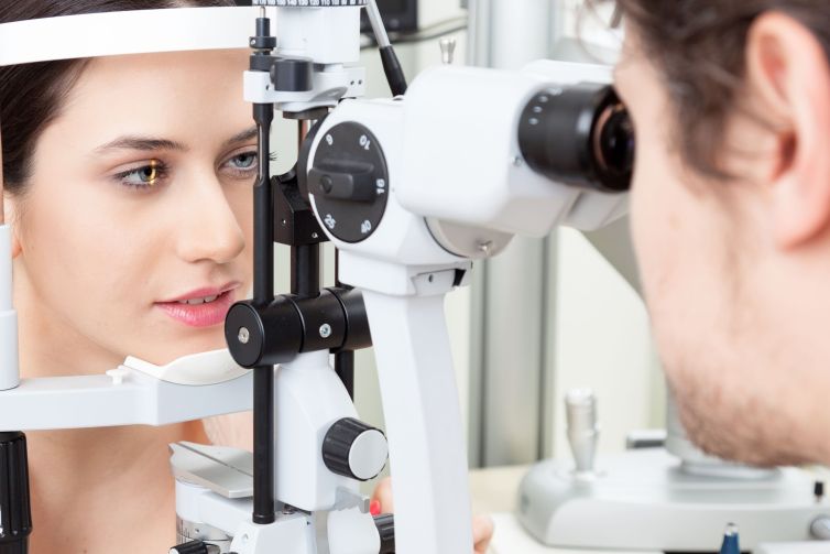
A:
<svg viewBox="0 0 830 554">
<path fill-rule="evenodd" d="M 112 362 L 225 346 L 225 315 L 252 273 L 245 59 L 216 51 L 87 65 L 15 206 L 15 279 L 39 322 Z"/>
</svg>

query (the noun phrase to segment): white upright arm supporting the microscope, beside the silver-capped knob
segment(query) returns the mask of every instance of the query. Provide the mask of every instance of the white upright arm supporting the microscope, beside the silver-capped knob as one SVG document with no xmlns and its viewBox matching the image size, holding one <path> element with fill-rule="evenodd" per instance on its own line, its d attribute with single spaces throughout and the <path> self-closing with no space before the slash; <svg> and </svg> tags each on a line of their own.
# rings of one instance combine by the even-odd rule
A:
<svg viewBox="0 0 830 554">
<path fill-rule="evenodd" d="M 363 291 L 392 463 L 397 554 L 472 552 L 467 452 L 444 294 Z"/>
</svg>

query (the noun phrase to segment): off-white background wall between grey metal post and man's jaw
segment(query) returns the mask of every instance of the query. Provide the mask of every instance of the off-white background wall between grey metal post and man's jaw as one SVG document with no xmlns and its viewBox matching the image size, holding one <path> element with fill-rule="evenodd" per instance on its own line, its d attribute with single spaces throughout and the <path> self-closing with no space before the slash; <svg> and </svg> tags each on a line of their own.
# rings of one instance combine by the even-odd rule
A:
<svg viewBox="0 0 830 554">
<path fill-rule="evenodd" d="M 554 452 L 569 455 L 561 399 L 586 387 L 598 398 L 600 452 L 619 452 L 631 430 L 664 425 L 648 316 L 637 293 L 581 233 L 563 230 L 558 251 Z"/>
</svg>

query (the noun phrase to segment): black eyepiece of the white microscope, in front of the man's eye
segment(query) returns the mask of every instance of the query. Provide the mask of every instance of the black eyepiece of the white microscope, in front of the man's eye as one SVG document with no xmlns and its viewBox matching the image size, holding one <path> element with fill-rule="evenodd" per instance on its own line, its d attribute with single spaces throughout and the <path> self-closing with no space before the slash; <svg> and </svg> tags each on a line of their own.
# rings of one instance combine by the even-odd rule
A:
<svg viewBox="0 0 830 554">
<path fill-rule="evenodd" d="M 546 89 L 522 112 L 518 145 L 548 178 L 607 193 L 631 187 L 634 126 L 613 87 L 583 83 Z"/>
</svg>

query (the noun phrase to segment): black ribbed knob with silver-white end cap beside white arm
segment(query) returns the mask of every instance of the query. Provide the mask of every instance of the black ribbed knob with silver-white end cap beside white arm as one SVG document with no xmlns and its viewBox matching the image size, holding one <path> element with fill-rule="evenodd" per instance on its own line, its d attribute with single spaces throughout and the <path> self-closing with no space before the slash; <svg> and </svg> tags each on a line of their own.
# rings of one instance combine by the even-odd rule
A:
<svg viewBox="0 0 830 554">
<path fill-rule="evenodd" d="M 335 422 L 323 439 L 326 467 L 359 481 L 378 477 L 387 456 L 389 446 L 383 432 L 351 417 Z"/>
</svg>

